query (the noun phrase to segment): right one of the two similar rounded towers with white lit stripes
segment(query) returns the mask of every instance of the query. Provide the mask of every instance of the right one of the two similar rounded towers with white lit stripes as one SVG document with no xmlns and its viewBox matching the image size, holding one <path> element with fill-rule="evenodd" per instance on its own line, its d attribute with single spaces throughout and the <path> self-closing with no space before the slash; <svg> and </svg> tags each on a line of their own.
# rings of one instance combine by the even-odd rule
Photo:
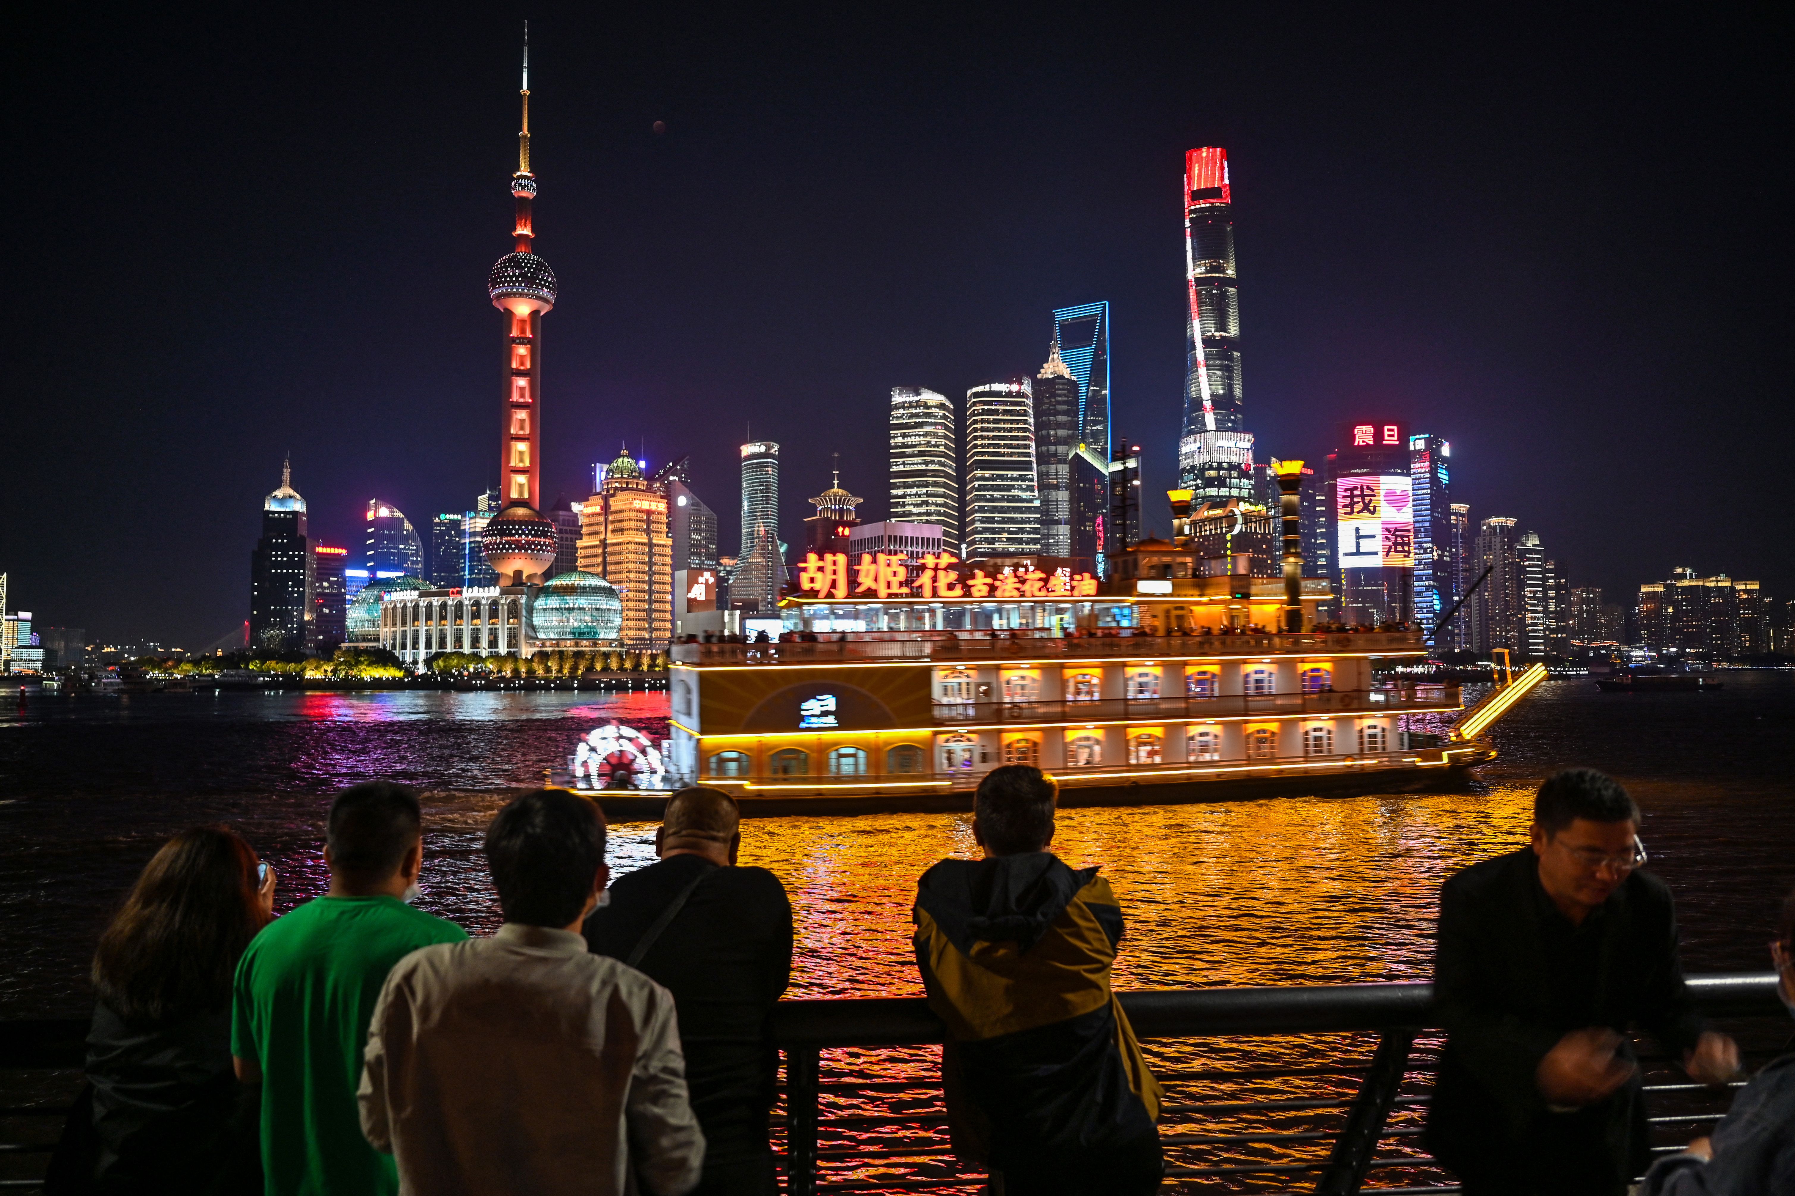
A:
<svg viewBox="0 0 1795 1196">
<path fill-rule="evenodd" d="M 980 382 L 966 391 L 966 558 L 1039 550 L 1029 378 Z"/>
</svg>

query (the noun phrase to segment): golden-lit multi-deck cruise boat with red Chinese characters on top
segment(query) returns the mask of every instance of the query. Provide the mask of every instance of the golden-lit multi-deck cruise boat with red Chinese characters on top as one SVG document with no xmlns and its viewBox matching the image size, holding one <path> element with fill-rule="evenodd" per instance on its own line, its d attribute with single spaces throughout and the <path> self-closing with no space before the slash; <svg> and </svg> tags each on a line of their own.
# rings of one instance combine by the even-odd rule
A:
<svg viewBox="0 0 1795 1196">
<path fill-rule="evenodd" d="M 1425 660 L 1420 631 L 1319 629 L 1327 583 L 1294 570 L 894 565 L 811 554 L 779 640 L 675 644 L 668 771 L 745 812 L 969 809 L 1000 764 L 1050 771 L 1064 805 L 1389 791 L 1492 758 L 1475 730 L 1544 676 L 1467 735 L 1456 683 L 1379 667 Z"/>
</svg>

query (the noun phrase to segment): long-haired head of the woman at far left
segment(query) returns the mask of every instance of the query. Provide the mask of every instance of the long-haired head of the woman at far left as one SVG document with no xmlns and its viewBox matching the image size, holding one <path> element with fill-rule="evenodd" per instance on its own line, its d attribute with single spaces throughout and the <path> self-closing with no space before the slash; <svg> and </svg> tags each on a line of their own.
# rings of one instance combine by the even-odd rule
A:
<svg viewBox="0 0 1795 1196">
<path fill-rule="evenodd" d="M 228 1006 L 237 959 L 264 925 L 255 866 L 228 827 L 163 843 L 93 952 L 101 1001 L 135 1026 Z"/>
</svg>

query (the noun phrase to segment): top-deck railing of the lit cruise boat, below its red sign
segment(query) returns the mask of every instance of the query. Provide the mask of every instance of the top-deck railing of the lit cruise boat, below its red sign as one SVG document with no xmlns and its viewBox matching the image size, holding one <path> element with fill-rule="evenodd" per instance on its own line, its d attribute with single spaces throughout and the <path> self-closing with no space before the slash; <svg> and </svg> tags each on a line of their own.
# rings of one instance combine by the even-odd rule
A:
<svg viewBox="0 0 1795 1196">
<path fill-rule="evenodd" d="M 1422 654 L 1420 631 L 1305 631 L 1301 635 L 1093 635 L 1063 638 L 1045 631 L 1003 633 L 989 638 L 975 631 L 887 631 L 853 633 L 851 640 L 811 644 L 675 644 L 673 663 L 684 665 L 815 665 L 840 660 L 1156 660 L 1226 658 L 1341 653 Z M 903 638 L 874 638 L 874 637 Z M 959 638 L 948 638 L 955 635 Z"/>
</svg>

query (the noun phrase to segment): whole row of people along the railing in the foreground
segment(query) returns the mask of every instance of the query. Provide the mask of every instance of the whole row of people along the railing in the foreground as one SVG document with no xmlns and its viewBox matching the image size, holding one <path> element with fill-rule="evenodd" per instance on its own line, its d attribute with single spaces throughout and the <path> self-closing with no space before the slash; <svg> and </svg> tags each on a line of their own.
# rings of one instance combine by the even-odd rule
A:
<svg viewBox="0 0 1795 1196">
<path fill-rule="evenodd" d="M 917 884 L 915 961 L 946 1027 L 955 1155 L 1002 1196 L 1151 1192 L 1161 1090 L 1111 992 L 1124 914 L 1052 854 L 1030 766 L 975 794 L 982 859 Z M 1531 843 L 1447 880 L 1427 1144 L 1468 1196 L 1795 1192 L 1795 1054 L 1711 1137 L 1651 1160 L 1642 1026 L 1700 1085 L 1739 1053 L 1696 1013 L 1639 810 L 1587 769 L 1549 778 Z M 149 861 L 93 959 L 86 1085 L 45 1189 L 237 1196 L 768 1196 L 792 970 L 779 879 L 738 862 L 736 802 L 684 789 L 659 861 L 612 884 L 587 798 L 538 789 L 485 836 L 504 922 L 468 938 L 411 902 L 407 787 L 336 798 L 330 888 L 280 918 L 276 875 L 224 827 Z M 1795 1011 L 1795 898 L 1772 945 Z"/>
</svg>

